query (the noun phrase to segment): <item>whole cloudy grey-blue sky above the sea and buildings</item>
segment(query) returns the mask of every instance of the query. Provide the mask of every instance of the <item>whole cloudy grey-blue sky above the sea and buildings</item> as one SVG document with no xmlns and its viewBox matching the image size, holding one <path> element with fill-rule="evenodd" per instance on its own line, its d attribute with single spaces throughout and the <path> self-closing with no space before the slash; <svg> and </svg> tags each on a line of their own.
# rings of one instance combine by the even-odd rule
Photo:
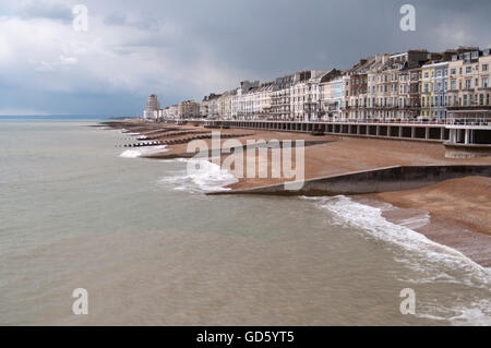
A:
<svg viewBox="0 0 491 348">
<path fill-rule="evenodd" d="M 489 0 L 0 0 L 0 115 L 136 116 L 152 93 L 169 106 L 374 53 L 490 48 L 489 13 Z"/>
</svg>

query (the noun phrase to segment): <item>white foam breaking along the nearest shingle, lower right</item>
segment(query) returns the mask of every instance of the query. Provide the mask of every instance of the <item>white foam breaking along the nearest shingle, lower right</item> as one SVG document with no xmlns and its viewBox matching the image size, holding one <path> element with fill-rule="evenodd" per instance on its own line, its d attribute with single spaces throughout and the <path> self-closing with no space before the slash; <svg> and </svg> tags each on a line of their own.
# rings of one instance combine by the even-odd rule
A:
<svg viewBox="0 0 491 348">
<path fill-rule="evenodd" d="M 427 225 L 429 215 L 421 214 L 396 225 L 382 215 L 383 211 L 394 208 L 392 205 L 378 208 L 343 195 L 303 199 L 312 200 L 319 207 L 333 213 L 338 225 L 356 227 L 372 238 L 400 247 L 404 252 L 398 252 L 394 260 L 419 274 L 416 279 L 400 280 L 419 285 L 457 284 L 479 293 L 478 299 L 469 299 L 470 303 L 421 303 L 416 314 L 418 317 L 448 321 L 454 325 L 491 325 L 490 268 L 482 267 L 459 251 L 433 242 L 411 229 Z"/>
</svg>

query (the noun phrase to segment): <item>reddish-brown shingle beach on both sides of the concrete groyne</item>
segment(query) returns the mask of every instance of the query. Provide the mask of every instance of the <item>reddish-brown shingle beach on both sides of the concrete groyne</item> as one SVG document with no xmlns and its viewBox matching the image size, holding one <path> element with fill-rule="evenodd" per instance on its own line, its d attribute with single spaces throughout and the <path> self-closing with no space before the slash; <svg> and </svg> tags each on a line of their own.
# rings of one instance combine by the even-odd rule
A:
<svg viewBox="0 0 491 348">
<path fill-rule="evenodd" d="M 181 140 L 168 144 L 166 152 L 144 155 L 145 158 L 188 157 L 187 144 L 196 137 L 208 145 L 206 134 L 211 130 L 195 125 L 159 124 L 137 121 L 117 121 L 104 123 L 112 129 L 124 129 L 128 133 L 147 135 L 148 140 Z M 124 125 L 124 127 L 123 127 Z M 169 128 L 170 130 L 163 130 Z M 221 146 L 226 139 L 239 140 L 303 140 L 321 141 L 320 144 L 306 146 L 304 179 L 343 175 L 355 170 L 367 170 L 391 165 L 431 166 L 431 165 L 491 165 L 491 158 L 477 157 L 453 159 L 444 157 L 443 145 L 412 143 L 410 141 L 391 141 L 356 139 L 335 135 L 313 136 L 306 133 L 255 131 L 244 129 L 224 129 Z M 131 148 L 131 147 L 129 147 Z M 227 154 L 227 156 L 230 156 Z M 225 157 L 221 155 L 221 157 Z M 224 159 L 224 158 L 223 158 Z M 271 156 L 268 157 L 271 170 Z M 226 185 L 228 193 L 262 185 L 283 183 L 285 178 L 238 178 L 236 183 Z M 465 177 L 450 179 L 419 189 L 404 191 L 348 195 L 356 202 L 381 208 L 382 216 L 396 225 L 416 221 L 428 215 L 428 221 L 421 226 L 406 226 L 428 239 L 455 249 L 483 267 L 491 267 L 491 178 Z M 390 204 L 392 208 L 384 209 Z M 417 221 L 418 223 L 418 221 Z"/>
</svg>

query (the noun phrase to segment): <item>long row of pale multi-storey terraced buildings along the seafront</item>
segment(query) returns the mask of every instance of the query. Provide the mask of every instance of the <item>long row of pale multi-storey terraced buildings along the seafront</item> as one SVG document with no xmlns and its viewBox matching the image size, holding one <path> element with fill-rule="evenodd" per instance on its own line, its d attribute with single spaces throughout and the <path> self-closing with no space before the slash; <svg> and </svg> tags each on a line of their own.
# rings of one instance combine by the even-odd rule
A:
<svg viewBox="0 0 491 348">
<path fill-rule="evenodd" d="M 490 49 L 478 47 L 380 53 L 362 58 L 345 71 L 304 70 L 265 83 L 242 81 L 201 103 L 185 100 L 160 109 L 152 94 L 144 118 L 247 121 L 261 127 L 270 123 L 255 121 L 288 121 L 295 124 L 283 129 L 291 130 L 313 129 L 297 122 L 364 122 L 367 125 L 356 128 L 339 123 L 325 129 L 447 140 L 455 146 L 487 144 L 491 142 L 490 64 Z M 409 125 L 386 125 L 394 122 Z M 418 122 L 434 127 L 421 133 L 410 125 Z M 369 125 L 372 123 L 379 125 Z"/>
</svg>

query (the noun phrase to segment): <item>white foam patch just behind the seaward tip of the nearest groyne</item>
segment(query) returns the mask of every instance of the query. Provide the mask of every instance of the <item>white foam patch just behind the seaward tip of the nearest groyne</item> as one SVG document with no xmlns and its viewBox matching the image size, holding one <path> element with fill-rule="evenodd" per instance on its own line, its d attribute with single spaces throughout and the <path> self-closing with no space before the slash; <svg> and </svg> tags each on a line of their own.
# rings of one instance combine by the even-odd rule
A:
<svg viewBox="0 0 491 348">
<path fill-rule="evenodd" d="M 226 185 L 238 181 L 230 171 L 208 160 L 179 158 L 176 161 L 185 163 L 187 169 L 175 171 L 173 175 L 161 178 L 159 182 L 172 184 L 178 191 L 226 191 L 230 190 L 225 188 Z"/>
</svg>

